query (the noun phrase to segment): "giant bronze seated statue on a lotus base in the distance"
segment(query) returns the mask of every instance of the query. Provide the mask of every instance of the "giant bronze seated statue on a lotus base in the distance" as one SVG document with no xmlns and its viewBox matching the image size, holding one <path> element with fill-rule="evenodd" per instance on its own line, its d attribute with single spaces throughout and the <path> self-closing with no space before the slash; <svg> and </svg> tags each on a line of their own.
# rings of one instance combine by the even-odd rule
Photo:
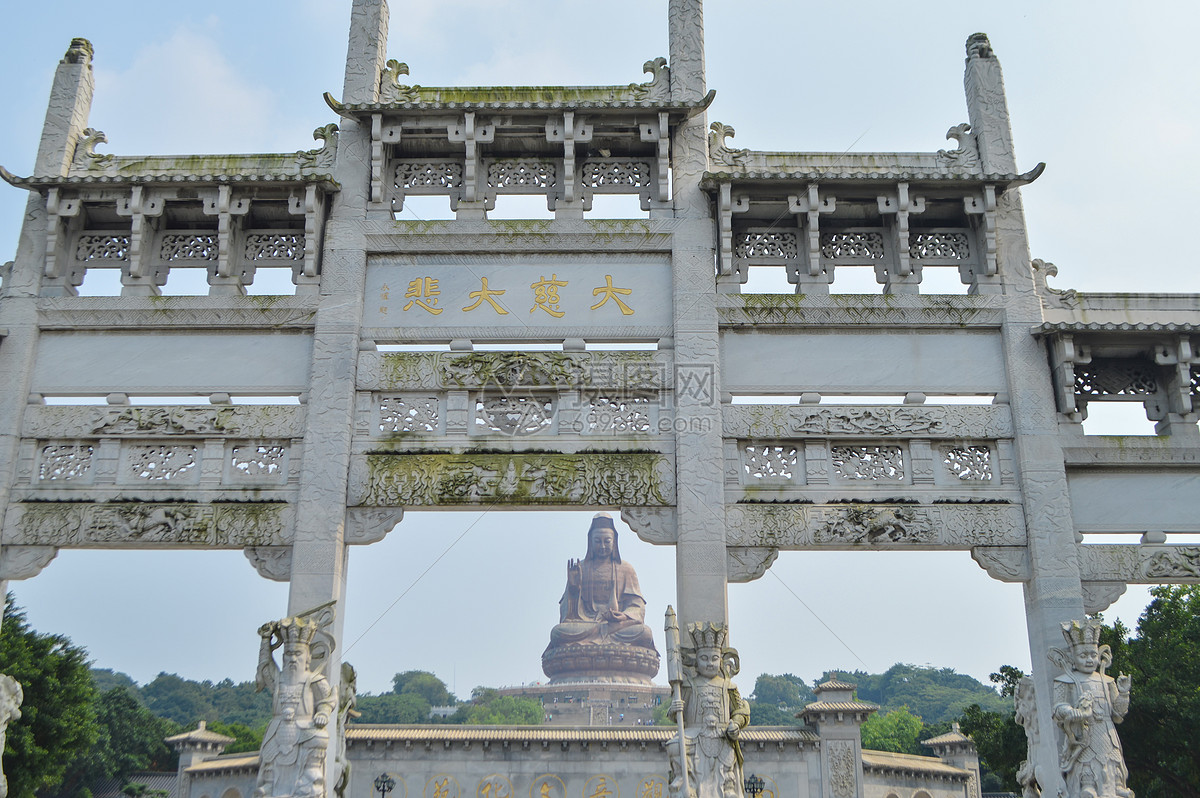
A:
<svg viewBox="0 0 1200 798">
<path fill-rule="evenodd" d="M 622 559 L 607 512 L 592 520 L 584 558 L 566 562 L 558 624 L 550 631 L 541 667 L 551 684 L 598 679 L 649 684 L 659 672 L 637 572 Z"/>
</svg>

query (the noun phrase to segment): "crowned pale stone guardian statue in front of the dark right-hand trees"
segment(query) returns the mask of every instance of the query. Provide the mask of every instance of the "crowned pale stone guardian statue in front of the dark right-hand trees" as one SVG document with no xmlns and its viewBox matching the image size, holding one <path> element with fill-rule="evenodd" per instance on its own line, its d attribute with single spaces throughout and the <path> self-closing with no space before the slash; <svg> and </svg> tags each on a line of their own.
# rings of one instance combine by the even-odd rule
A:
<svg viewBox="0 0 1200 798">
<path fill-rule="evenodd" d="M 1104 671 L 1112 652 L 1099 644 L 1100 622 L 1062 624 L 1069 649 L 1051 649 L 1066 671 L 1054 680 L 1054 720 L 1062 734 L 1058 767 L 1068 798 L 1133 798 L 1116 724 L 1129 710 L 1129 677 Z"/>
</svg>

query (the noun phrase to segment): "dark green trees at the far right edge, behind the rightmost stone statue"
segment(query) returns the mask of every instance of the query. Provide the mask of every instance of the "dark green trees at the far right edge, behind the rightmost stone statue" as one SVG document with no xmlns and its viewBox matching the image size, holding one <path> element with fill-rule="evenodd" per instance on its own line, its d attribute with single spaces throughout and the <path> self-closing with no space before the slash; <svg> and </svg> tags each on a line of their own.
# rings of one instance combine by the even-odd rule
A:
<svg viewBox="0 0 1200 798">
<path fill-rule="evenodd" d="M 1129 637 L 1105 629 L 1109 674 L 1133 679 L 1129 714 L 1117 727 L 1138 798 L 1200 797 L 1200 586 L 1151 588 L 1153 596 Z"/>
</svg>

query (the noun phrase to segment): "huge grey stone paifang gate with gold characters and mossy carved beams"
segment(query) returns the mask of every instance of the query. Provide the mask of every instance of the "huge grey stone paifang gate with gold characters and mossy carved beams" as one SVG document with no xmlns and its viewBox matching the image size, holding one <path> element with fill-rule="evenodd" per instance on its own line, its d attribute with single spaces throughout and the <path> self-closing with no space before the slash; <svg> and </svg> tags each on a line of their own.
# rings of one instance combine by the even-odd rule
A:
<svg viewBox="0 0 1200 798">
<path fill-rule="evenodd" d="M 708 122 L 700 0 L 671 0 L 670 60 L 617 86 L 407 85 L 386 20 L 354 1 L 336 125 L 299 154 L 100 154 L 91 46 L 71 43 L 32 175 L 0 173 L 30 192 L 0 301 L 0 577 L 64 547 L 241 548 L 289 582 L 289 614 L 320 608 L 336 697 L 347 546 L 406 508 L 619 509 L 676 547 L 682 629 L 725 624 L 728 582 L 781 550 L 971 551 L 1024 586 L 1042 730 L 1062 623 L 1200 578 L 1200 547 L 1170 542 L 1200 530 L 1200 299 L 1046 286 L 1018 191 L 1040 166 L 1018 168 L 985 36 L 955 149 L 766 152 Z M 510 194 L 553 220 L 488 221 Z M 598 194 L 648 218 L 592 220 Z M 424 196 L 456 218 L 397 221 Z M 762 265 L 796 295 L 740 293 Z M 830 295 L 846 266 L 882 294 Z M 268 268 L 294 296 L 245 295 Z M 92 269 L 121 295 L 77 296 Z M 174 269 L 209 295 L 160 298 Z M 922 294 L 929 269 L 968 293 Z M 230 401 L 270 395 L 300 402 Z M 738 402 L 764 395 L 798 400 Z M 858 395 L 904 403 L 839 403 Z M 1142 402 L 1159 434 L 1084 436 L 1096 401 Z M 1055 737 L 1032 755 L 1050 796 Z M 862 773 L 824 794 L 860 796 Z"/>
</svg>

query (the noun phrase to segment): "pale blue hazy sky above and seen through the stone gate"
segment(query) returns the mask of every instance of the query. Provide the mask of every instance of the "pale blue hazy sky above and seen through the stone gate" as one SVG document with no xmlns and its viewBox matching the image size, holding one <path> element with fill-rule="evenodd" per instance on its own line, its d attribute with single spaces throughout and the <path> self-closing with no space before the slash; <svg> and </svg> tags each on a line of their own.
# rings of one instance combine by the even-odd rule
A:
<svg viewBox="0 0 1200 798">
<path fill-rule="evenodd" d="M 0 164 L 10 170 L 31 169 L 72 36 L 96 48 L 91 125 L 110 142 L 102 152 L 294 151 L 336 121 L 320 95 L 341 90 L 347 0 L 100 8 L 58 0 L 2 12 Z M 1048 163 L 1022 196 L 1033 256 L 1060 268 L 1052 284 L 1200 293 L 1184 241 L 1200 184 L 1200 61 L 1176 32 L 1194 30 L 1198 17 L 1187 2 L 1135 11 L 1094 1 L 710 0 L 709 119 L 737 128 L 734 146 L 754 149 L 950 146 L 944 131 L 966 120 L 964 41 L 986 31 L 1004 66 L 1018 162 Z M 389 55 L 425 85 L 624 84 L 666 54 L 665 0 L 391 2 Z M 24 202 L 0 186 L 0 262 L 16 251 Z M 436 671 L 460 694 L 541 678 L 564 560 L 582 556 L 587 517 L 488 514 L 472 527 L 473 518 L 414 515 L 352 554 L 346 646 L 354 643 L 347 656 L 365 689 L 385 689 L 412 667 Z M 671 552 L 632 535 L 622 542 L 658 628 L 673 601 Z M 35 625 L 143 682 L 158 671 L 252 678 L 254 629 L 282 613 L 286 598 L 239 552 L 66 552 L 11 587 Z M 1144 596 L 1132 589 L 1120 605 L 1130 624 Z M 992 582 L 964 553 L 791 553 L 763 580 L 732 586 L 730 599 L 748 679 L 898 660 L 983 679 L 1003 664 L 1028 667 L 1019 587 Z"/>
</svg>

